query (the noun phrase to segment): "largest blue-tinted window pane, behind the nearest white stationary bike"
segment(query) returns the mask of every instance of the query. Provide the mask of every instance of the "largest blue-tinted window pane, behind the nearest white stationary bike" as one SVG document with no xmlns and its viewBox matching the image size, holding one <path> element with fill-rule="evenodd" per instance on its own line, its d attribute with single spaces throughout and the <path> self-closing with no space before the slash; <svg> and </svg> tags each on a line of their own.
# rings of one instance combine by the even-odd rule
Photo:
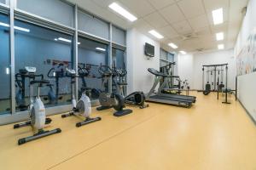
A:
<svg viewBox="0 0 256 170">
<path fill-rule="evenodd" d="M 47 107 L 69 104 L 71 83 L 64 71 L 72 67 L 73 37 L 20 20 L 15 20 L 15 26 L 15 74 L 25 66 L 36 67 L 37 74 L 43 74 L 44 79 L 50 81 L 49 86 L 41 88 L 44 104 Z M 18 84 L 19 81 L 21 83 Z M 17 111 L 26 110 L 26 105 L 29 105 L 28 82 L 28 78 L 16 78 Z"/>
</svg>

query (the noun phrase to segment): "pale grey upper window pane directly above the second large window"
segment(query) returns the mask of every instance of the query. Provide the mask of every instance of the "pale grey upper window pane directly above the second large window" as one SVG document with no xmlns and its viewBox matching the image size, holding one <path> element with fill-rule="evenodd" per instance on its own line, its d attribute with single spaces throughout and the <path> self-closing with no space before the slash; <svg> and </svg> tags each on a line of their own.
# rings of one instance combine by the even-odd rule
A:
<svg viewBox="0 0 256 170">
<path fill-rule="evenodd" d="M 97 37 L 109 39 L 109 25 L 107 22 L 90 14 L 79 11 L 79 30 L 88 32 Z"/>
</svg>

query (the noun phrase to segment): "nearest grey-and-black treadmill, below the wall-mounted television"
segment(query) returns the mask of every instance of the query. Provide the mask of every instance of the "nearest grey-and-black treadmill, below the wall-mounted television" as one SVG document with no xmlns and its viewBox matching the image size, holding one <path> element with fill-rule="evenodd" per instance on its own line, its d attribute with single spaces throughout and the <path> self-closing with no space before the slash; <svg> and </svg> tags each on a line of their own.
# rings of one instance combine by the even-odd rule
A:
<svg viewBox="0 0 256 170">
<path fill-rule="evenodd" d="M 160 71 L 156 71 L 153 68 L 148 68 L 148 71 L 154 75 L 155 81 L 154 81 L 153 87 L 150 89 L 150 91 L 146 97 L 146 101 L 168 104 L 168 105 L 179 105 L 179 106 L 183 106 L 183 107 L 190 107 L 193 103 L 195 103 L 194 96 L 184 96 L 184 95 L 178 95 L 178 94 L 175 94 L 175 95 L 174 94 L 162 94 L 160 92 L 158 92 L 157 94 L 154 94 L 154 89 L 156 88 L 158 83 L 160 83 L 160 80 L 165 80 L 172 76 L 161 73 Z"/>
</svg>

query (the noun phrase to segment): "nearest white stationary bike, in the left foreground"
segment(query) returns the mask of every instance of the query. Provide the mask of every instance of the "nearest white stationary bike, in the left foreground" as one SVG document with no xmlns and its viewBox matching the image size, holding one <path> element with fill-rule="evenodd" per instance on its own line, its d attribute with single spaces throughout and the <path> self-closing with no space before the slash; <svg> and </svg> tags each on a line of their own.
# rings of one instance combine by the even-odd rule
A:
<svg viewBox="0 0 256 170">
<path fill-rule="evenodd" d="M 40 139 L 46 136 L 49 136 L 51 134 L 55 134 L 55 133 L 61 133 L 61 129 L 60 128 L 56 128 L 54 130 L 50 130 L 50 131 L 44 131 L 44 125 L 45 124 L 49 124 L 51 122 L 51 119 L 46 118 L 46 114 L 45 114 L 45 108 L 44 108 L 44 103 L 42 102 L 42 100 L 40 99 L 40 88 L 43 86 L 43 84 L 49 84 L 48 80 L 44 80 L 44 76 L 43 75 L 35 75 L 36 72 L 36 67 L 25 67 L 26 71 L 27 71 L 27 77 L 29 77 L 30 80 L 30 85 L 29 85 L 29 89 L 30 89 L 30 105 L 29 105 L 29 109 L 30 109 L 30 121 L 27 122 L 21 122 L 19 124 L 15 124 L 14 128 L 19 128 L 19 127 L 26 127 L 31 125 L 33 128 L 35 128 L 37 130 L 37 133 L 35 133 L 32 136 L 26 137 L 26 138 L 22 138 L 18 140 L 18 144 L 25 144 L 26 142 L 30 142 L 32 140 L 35 139 Z M 36 80 L 36 77 L 41 77 L 40 80 Z M 34 84 L 38 84 L 38 95 L 36 97 L 36 99 L 33 99 L 32 94 L 33 94 L 33 85 Z"/>
</svg>

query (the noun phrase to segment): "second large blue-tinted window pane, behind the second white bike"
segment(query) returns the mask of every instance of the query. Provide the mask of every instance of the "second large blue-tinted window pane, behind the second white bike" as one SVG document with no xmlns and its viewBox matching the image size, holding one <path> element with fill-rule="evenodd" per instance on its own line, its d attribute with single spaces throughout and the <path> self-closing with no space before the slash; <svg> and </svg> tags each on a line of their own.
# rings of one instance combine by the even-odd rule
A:
<svg viewBox="0 0 256 170">
<path fill-rule="evenodd" d="M 88 76 L 79 78 L 79 95 L 81 88 L 87 88 L 87 94 L 91 99 L 97 99 L 97 95 L 91 88 L 108 90 L 108 87 L 102 88 L 101 75 L 98 72 L 99 65 L 108 65 L 108 45 L 95 42 L 93 40 L 79 37 L 79 68 L 88 69 Z M 106 83 L 107 86 L 107 83 Z"/>
</svg>

